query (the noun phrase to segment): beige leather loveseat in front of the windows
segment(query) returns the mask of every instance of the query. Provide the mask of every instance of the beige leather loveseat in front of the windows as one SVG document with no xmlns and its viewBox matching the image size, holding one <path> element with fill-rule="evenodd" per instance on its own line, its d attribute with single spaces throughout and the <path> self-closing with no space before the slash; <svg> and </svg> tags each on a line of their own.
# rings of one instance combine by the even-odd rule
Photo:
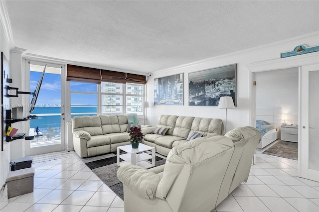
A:
<svg viewBox="0 0 319 212">
<path fill-rule="evenodd" d="M 72 118 L 74 151 L 80 157 L 116 152 L 130 144 L 127 115 L 75 116 Z"/>
</svg>

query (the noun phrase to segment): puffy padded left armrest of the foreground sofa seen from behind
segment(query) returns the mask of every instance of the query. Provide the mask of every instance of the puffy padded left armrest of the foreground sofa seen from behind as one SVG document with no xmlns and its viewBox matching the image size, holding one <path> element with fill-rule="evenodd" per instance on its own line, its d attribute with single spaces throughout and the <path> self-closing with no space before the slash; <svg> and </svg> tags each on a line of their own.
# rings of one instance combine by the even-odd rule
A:
<svg viewBox="0 0 319 212">
<path fill-rule="evenodd" d="M 117 177 L 132 192 L 145 199 L 155 199 L 160 176 L 141 166 L 122 166 L 117 171 Z"/>
</svg>

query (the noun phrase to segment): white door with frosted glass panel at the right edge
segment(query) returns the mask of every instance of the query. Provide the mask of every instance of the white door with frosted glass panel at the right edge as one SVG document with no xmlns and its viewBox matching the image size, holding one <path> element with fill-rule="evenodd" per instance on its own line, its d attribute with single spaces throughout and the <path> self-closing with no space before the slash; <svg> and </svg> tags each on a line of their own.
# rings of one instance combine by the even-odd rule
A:
<svg viewBox="0 0 319 212">
<path fill-rule="evenodd" d="M 319 65 L 300 67 L 300 177 L 319 182 Z"/>
</svg>

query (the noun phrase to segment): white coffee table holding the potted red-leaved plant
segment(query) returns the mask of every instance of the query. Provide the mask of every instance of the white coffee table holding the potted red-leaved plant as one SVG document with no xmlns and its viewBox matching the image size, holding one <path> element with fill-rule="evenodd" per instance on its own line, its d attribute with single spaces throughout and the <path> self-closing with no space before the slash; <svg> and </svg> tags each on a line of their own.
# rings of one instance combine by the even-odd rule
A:
<svg viewBox="0 0 319 212">
<path fill-rule="evenodd" d="M 120 150 L 127 152 L 120 155 Z M 124 161 L 120 162 L 120 158 Z M 152 159 L 152 162 L 148 161 Z M 133 149 L 132 145 L 116 147 L 116 164 L 118 166 L 125 166 L 135 164 L 144 168 L 151 168 L 155 166 L 155 147 L 139 144 L 139 148 Z"/>
</svg>

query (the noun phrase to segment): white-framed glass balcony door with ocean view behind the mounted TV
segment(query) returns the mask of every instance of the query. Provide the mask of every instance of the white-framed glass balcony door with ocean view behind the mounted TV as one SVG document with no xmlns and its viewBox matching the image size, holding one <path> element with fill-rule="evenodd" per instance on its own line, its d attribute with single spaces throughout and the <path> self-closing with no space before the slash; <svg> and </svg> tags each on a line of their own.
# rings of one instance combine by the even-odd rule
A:
<svg viewBox="0 0 319 212">
<path fill-rule="evenodd" d="M 29 105 L 26 109 L 27 111 L 24 111 L 25 115 L 37 116 L 36 119 L 30 119 L 26 123 L 26 130 L 34 131 L 34 139 L 25 140 L 26 156 L 64 151 L 66 149 L 64 66 L 26 60 L 25 87 L 30 92 L 35 90 L 45 64 L 47 64 L 47 67 L 34 110 L 30 112 Z M 31 99 L 32 95 L 25 98 L 25 103 L 30 104 Z"/>
</svg>

